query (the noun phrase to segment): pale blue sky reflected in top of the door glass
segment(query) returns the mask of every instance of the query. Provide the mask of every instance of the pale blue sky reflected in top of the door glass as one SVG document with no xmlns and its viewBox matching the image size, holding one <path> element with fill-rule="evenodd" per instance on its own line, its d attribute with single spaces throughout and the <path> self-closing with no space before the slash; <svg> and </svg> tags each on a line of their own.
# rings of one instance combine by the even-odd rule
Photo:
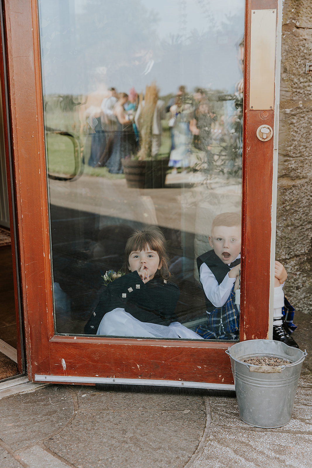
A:
<svg viewBox="0 0 312 468">
<path fill-rule="evenodd" d="M 233 91 L 241 78 L 237 45 L 243 37 L 243 0 L 124 0 L 123 15 L 120 4 L 39 0 L 46 94 L 110 86 L 140 92 L 153 80 L 161 95 L 181 84 L 189 90 Z M 142 6 L 159 20 L 140 31 L 144 21 L 132 26 L 129 18 L 141 15 Z"/>
</svg>

